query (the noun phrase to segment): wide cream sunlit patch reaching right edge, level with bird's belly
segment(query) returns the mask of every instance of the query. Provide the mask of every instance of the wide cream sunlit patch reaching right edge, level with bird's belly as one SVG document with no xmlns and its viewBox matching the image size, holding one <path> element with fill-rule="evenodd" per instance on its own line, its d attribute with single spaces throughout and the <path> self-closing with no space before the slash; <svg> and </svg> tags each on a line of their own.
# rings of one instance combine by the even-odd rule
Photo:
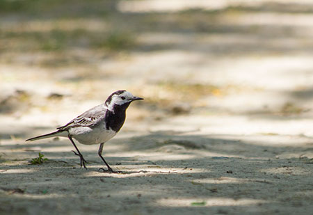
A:
<svg viewBox="0 0 313 215">
<path fill-rule="evenodd" d="M 188 123 L 186 123 L 188 122 Z M 310 119 L 271 120 L 268 118 L 252 118 L 251 116 L 177 116 L 167 123 L 159 123 L 150 128 L 151 132 L 164 132 L 175 127 L 176 132 L 188 132 L 188 135 L 207 136 L 207 138 L 223 138 L 232 141 L 246 141 L 255 145 L 290 145 L 298 147 L 307 143 L 311 136 L 307 127 Z M 208 135 L 210 134 L 210 135 Z M 303 135 L 305 134 L 305 135 Z"/>
</svg>

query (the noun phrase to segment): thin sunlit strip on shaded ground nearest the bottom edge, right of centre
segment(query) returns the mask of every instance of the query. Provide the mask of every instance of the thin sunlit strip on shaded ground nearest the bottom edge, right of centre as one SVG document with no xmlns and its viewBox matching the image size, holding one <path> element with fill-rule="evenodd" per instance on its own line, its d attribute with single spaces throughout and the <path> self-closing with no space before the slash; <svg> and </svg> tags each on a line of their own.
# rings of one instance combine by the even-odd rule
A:
<svg viewBox="0 0 313 215">
<path fill-rule="evenodd" d="M 166 207 L 192 207 L 196 203 L 201 203 L 200 206 L 213 207 L 213 206 L 243 206 L 243 205 L 257 205 L 259 203 L 264 203 L 264 200 L 254 200 L 248 198 L 242 198 L 239 200 L 234 200 L 232 198 L 207 198 L 207 199 L 174 199 L 167 198 L 157 201 L 159 205 Z"/>
</svg>

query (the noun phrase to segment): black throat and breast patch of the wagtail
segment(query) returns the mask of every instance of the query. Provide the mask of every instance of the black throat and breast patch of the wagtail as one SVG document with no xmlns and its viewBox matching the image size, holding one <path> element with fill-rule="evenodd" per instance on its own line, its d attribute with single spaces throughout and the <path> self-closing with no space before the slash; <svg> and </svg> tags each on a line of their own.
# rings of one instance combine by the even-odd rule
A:
<svg viewBox="0 0 313 215">
<path fill-rule="evenodd" d="M 120 131 L 122 125 L 124 125 L 126 118 L 126 109 L 128 108 L 130 102 L 113 106 L 112 111 L 106 110 L 106 129 L 112 129 L 114 132 Z"/>
</svg>

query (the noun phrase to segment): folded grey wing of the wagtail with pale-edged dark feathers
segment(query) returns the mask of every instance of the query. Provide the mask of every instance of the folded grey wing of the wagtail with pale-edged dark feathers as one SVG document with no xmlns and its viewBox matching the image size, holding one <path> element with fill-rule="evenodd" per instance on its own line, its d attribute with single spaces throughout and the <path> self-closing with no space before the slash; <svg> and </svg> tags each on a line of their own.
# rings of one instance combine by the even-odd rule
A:
<svg viewBox="0 0 313 215">
<path fill-rule="evenodd" d="M 63 131 L 70 129 L 71 127 L 91 127 L 97 125 L 105 118 L 106 108 L 101 104 L 95 106 L 93 109 L 86 111 L 85 113 L 77 116 L 66 125 L 57 127 L 58 130 Z"/>
</svg>

